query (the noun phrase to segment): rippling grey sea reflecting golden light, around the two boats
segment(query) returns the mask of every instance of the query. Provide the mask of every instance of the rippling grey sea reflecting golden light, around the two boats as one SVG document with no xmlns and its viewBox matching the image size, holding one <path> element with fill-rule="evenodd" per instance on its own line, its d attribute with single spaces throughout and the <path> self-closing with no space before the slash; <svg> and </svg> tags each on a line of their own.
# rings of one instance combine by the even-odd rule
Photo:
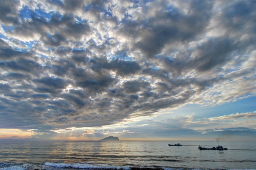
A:
<svg viewBox="0 0 256 170">
<path fill-rule="evenodd" d="M 220 141 L 228 150 L 198 150 L 217 142 L 0 141 L 0 170 L 256 169 L 256 143 Z"/>
</svg>

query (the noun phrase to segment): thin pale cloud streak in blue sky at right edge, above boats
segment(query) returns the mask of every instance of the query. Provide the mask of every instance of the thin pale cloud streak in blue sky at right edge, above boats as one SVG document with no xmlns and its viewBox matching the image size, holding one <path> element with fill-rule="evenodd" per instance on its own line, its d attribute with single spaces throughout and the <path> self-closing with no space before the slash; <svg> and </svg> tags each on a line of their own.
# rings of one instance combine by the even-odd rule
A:
<svg viewBox="0 0 256 170">
<path fill-rule="evenodd" d="M 256 117 L 256 111 L 254 112 L 246 112 L 246 113 L 236 113 L 230 115 L 223 115 L 219 117 L 209 118 L 210 121 L 217 121 L 217 120 L 234 120 L 234 119 L 250 119 Z"/>
</svg>

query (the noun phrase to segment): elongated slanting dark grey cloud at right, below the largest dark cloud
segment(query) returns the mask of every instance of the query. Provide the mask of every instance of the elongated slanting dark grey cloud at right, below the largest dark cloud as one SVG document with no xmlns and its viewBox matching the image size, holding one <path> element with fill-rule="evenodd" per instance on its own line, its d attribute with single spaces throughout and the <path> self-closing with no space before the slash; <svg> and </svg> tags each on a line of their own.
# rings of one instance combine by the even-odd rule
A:
<svg viewBox="0 0 256 170">
<path fill-rule="evenodd" d="M 196 69 L 197 72 L 205 72 L 213 68 L 222 67 L 225 63 L 232 60 L 235 53 L 234 49 L 241 49 L 240 52 L 236 52 L 241 54 L 241 51 L 243 51 L 242 47 L 243 45 L 240 42 L 235 42 L 235 40 L 226 37 L 219 37 L 208 39 L 196 47 L 194 50 L 197 56 L 193 59 L 191 59 L 192 53 L 190 53 L 183 60 L 181 57 L 162 57 L 161 60 L 164 62 L 167 70 L 177 75 L 191 69 Z M 186 54 L 181 52 L 178 55 Z"/>
</svg>

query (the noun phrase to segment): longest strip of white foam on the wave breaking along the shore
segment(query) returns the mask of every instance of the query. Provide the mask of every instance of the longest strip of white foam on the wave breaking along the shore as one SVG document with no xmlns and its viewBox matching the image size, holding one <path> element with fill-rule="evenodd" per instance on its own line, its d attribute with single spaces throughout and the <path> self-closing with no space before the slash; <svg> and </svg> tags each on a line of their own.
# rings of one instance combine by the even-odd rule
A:
<svg viewBox="0 0 256 170">
<path fill-rule="evenodd" d="M 66 163 L 44 163 L 46 166 L 53 166 L 58 168 L 77 168 L 77 169 L 123 169 L 123 170 L 130 170 L 130 167 L 127 166 L 114 166 L 108 164 L 83 164 L 83 163 L 73 163 L 73 164 L 66 164 Z"/>
</svg>

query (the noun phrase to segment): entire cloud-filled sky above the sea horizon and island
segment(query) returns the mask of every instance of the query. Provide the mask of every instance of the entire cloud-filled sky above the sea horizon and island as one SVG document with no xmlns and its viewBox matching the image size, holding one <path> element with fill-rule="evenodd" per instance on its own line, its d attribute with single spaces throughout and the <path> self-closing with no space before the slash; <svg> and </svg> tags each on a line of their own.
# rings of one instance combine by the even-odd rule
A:
<svg viewBox="0 0 256 170">
<path fill-rule="evenodd" d="M 255 9 L 0 0 L 0 139 L 256 140 Z"/>
</svg>

